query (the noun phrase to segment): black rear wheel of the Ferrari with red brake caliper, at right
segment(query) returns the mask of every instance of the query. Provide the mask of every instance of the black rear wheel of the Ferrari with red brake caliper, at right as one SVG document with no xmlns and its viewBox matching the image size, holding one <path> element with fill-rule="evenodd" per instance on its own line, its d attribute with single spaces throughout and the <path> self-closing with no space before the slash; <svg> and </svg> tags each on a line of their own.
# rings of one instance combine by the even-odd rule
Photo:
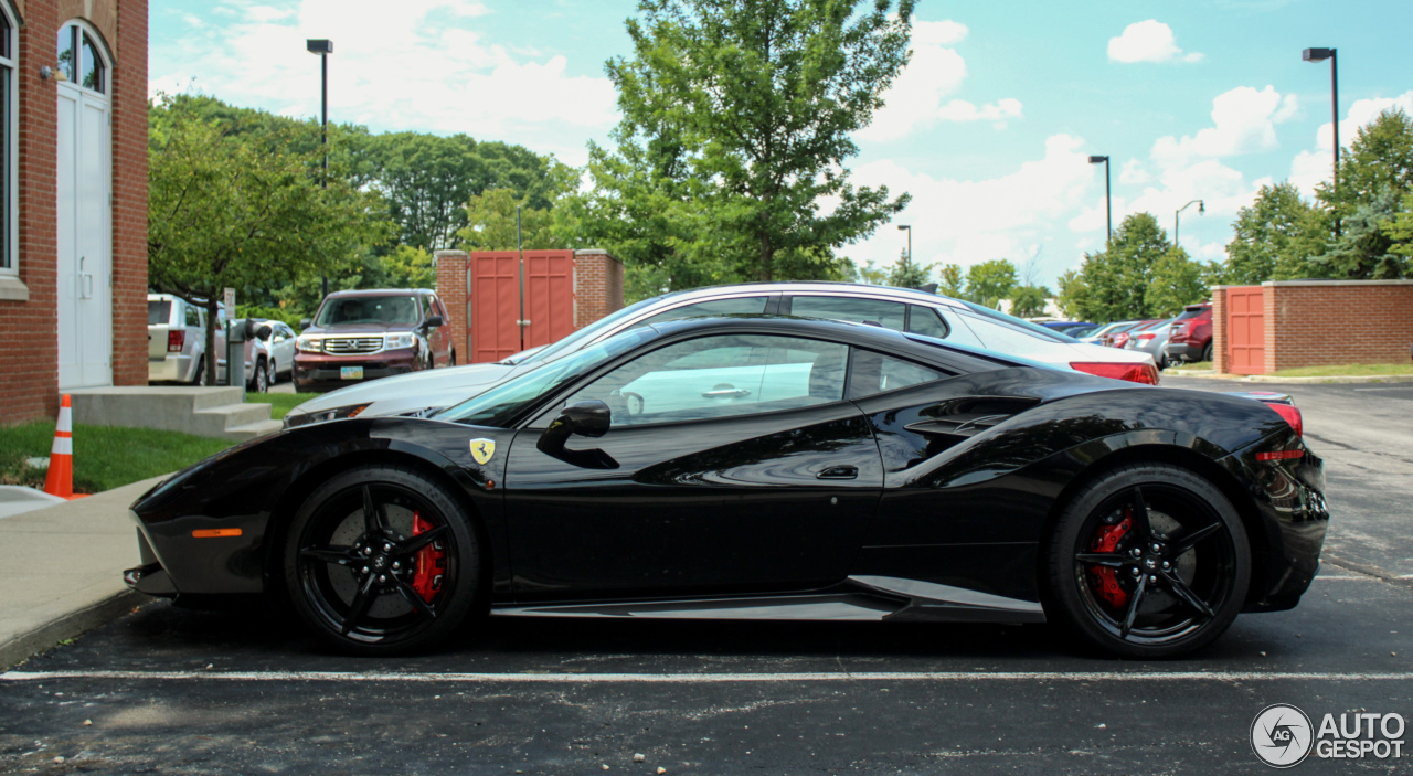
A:
<svg viewBox="0 0 1413 776">
<path fill-rule="evenodd" d="M 1046 615 L 1116 657 L 1177 657 L 1231 626 L 1251 567 L 1246 530 L 1215 485 L 1180 466 L 1122 465 L 1060 513 L 1046 544 Z"/>
</svg>

